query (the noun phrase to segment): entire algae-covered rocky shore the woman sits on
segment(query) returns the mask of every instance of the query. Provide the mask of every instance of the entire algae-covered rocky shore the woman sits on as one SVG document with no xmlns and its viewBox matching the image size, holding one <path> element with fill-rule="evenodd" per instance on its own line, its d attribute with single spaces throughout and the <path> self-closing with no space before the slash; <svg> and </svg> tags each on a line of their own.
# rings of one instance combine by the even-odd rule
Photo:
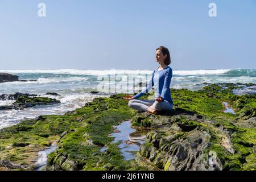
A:
<svg viewBox="0 0 256 182">
<path fill-rule="evenodd" d="M 0 167 L 34 170 L 38 152 L 57 143 L 47 170 L 255 170 L 256 96 L 237 96 L 236 86 L 172 89 L 174 110 L 159 115 L 134 111 L 117 94 L 64 115 L 20 122 L 0 130 Z M 224 113 L 224 101 L 236 114 Z M 137 158 L 126 161 L 109 134 L 129 119 L 152 131 Z"/>
</svg>

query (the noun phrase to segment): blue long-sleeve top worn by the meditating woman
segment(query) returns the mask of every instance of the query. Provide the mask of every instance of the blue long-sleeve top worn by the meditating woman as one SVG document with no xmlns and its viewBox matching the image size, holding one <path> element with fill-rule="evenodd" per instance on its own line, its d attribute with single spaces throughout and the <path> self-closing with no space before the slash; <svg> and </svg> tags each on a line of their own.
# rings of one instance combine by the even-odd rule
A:
<svg viewBox="0 0 256 182">
<path fill-rule="evenodd" d="M 166 67 L 161 71 L 158 71 L 158 68 L 156 68 L 152 73 L 150 82 L 147 84 L 145 88 L 142 89 L 140 93 L 134 96 L 134 98 L 138 99 L 139 97 L 148 93 L 151 90 L 151 88 L 155 86 L 155 98 L 158 98 L 158 96 L 161 96 L 164 100 L 173 104 L 171 91 L 170 91 L 171 80 L 172 80 L 171 67 Z"/>
</svg>

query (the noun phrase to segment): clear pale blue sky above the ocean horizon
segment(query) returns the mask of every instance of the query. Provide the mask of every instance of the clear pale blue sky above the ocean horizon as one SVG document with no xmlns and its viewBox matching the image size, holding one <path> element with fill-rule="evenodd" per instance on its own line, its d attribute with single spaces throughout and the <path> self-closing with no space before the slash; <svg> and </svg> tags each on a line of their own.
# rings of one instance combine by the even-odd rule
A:
<svg viewBox="0 0 256 182">
<path fill-rule="evenodd" d="M 256 68 L 255 0 L 0 0 L 0 23 L 0 69 L 152 69 L 158 46 L 175 70 Z"/>
</svg>

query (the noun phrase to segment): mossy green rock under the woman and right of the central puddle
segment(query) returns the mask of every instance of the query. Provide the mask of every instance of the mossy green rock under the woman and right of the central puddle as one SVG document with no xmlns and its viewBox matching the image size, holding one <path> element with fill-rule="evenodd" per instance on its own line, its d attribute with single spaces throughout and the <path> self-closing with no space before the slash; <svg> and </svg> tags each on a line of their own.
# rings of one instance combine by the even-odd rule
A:
<svg viewBox="0 0 256 182">
<path fill-rule="evenodd" d="M 164 170 L 255 170 L 256 96 L 231 91 L 215 84 L 195 92 L 172 89 L 175 110 L 161 115 L 134 111 L 134 125 L 155 129 L 141 155 Z M 246 101 L 238 108 L 241 99 Z M 222 101 L 237 114 L 223 113 Z"/>
</svg>

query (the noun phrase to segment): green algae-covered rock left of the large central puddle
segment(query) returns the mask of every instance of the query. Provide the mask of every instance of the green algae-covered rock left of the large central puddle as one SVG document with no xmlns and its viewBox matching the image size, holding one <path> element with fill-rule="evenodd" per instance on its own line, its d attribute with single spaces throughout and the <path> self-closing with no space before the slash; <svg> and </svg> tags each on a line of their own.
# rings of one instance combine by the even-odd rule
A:
<svg viewBox="0 0 256 182">
<path fill-rule="evenodd" d="M 41 116 L 0 130 L 0 160 L 18 167 L 4 163 L 2 166 L 35 169 L 38 152 L 57 141 L 57 150 L 48 155 L 48 170 L 147 169 L 135 160 L 123 160 L 117 144 L 110 143 L 113 126 L 131 118 L 131 109 L 123 96 L 95 98 L 85 107 L 64 115 Z M 100 151 L 102 146 L 108 147 L 105 152 Z"/>
</svg>

